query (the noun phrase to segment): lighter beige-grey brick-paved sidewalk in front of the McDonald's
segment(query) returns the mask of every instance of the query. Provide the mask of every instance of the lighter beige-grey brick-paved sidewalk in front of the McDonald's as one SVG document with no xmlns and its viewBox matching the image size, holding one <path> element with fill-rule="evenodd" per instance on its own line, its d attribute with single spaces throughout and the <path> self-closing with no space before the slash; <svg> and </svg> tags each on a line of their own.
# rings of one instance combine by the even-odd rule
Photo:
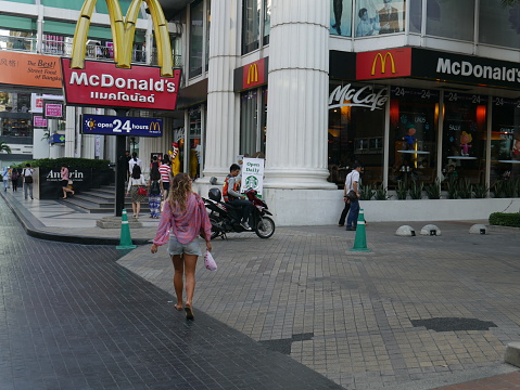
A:
<svg viewBox="0 0 520 390">
<path fill-rule="evenodd" d="M 8 200 L 30 221 L 29 206 Z M 39 230 L 109 236 L 45 226 L 46 218 L 55 221 L 39 216 Z M 504 363 L 505 346 L 520 340 L 520 231 L 473 235 L 485 221 L 461 221 L 433 222 L 441 236 L 394 234 L 427 223 L 370 223 L 370 252 L 350 251 L 355 232 L 337 226 L 277 227 L 265 240 L 231 234 L 214 242 L 218 271 L 198 265 L 195 310 L 345 389 L 520 389 L 518 367 Z M 131 235 L 145 240 L 154 230 Z M 118 263 L 174 292 L 164 247 L 139 246 Z"/>
</svg>

